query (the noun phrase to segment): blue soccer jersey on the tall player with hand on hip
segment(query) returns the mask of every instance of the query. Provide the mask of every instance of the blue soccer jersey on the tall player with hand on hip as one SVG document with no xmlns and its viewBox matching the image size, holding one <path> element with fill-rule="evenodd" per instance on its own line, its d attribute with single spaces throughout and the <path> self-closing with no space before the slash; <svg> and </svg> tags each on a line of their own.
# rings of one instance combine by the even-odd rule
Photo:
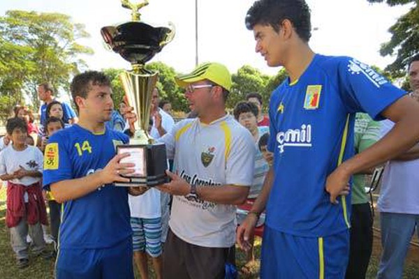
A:
<svg viewBox="0 0 419 279">
<path fill-rule="evenodd" d="M 300 79 L 284 81 L 270 100 L 274 183 L 267 225 L 297 236 L 328 236 L 348 229 L 351 196 L 330 203 L 325 191 L 338 158 L 353 156 L 355 112 L 374 119 L 404 91 L 351 57 L 316 54 Z"/>
</svg>

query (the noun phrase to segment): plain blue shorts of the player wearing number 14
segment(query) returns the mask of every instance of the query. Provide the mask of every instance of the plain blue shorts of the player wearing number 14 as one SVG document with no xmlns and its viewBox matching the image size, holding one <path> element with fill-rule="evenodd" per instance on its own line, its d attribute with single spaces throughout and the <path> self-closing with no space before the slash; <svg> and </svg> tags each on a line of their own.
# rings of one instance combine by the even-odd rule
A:
<svg viewBox="0 0 419 279">
<path fill-rule="evenodd" d="M 133 279 L 131 237 L 110 248 L 60 249 L 57 255 L 57 279 Z"/>
</svg>

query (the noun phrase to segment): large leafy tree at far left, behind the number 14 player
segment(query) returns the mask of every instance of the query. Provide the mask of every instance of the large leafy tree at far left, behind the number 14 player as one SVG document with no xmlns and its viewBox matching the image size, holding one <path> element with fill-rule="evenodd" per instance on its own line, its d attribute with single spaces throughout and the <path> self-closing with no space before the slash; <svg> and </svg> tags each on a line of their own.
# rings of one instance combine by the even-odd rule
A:
<svg viewBox="0 0 419 279">
<path fill-rule="evenodd" d="M 76 42 L 88 36 L 68 15 L 9 10 L 0 17 L 1 93 L 26 91 L 37 109 L 41 82 L 68 89 L 71 75 L 85 67 L 79 54 L 93 53 Z"/>
</svg>

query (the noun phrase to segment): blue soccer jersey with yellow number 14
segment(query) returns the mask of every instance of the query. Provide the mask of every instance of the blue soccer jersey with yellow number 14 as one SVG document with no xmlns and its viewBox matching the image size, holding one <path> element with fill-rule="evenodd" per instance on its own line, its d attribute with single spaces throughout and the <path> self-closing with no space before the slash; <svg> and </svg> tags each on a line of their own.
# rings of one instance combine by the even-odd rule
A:
<svg viewBox="0 0 419 279">
<path fill-rule="evenodd" d="M 73 125 L 50 137 L 44 155 L 44 188 L 103 169 L 115 156 L 115 146 L 128 137 L 114 130 L 95 135 Z M 106 184 L 64 203 L 59 229 L 60 248 L 106 248 L 131 237 L 128 191 Z"/>
</svg>

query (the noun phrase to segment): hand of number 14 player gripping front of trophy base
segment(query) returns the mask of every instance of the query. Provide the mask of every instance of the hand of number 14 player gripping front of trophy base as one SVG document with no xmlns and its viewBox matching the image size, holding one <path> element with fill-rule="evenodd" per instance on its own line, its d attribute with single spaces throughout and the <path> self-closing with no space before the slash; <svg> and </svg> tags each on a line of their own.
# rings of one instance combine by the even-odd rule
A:
<svg viewBox="0 0 419 279">
<path fill-rule="evenodd" d="M 131 167 L 135 167 L 134 163 L 119 163 L 120 160 L 130 156 L 130 153 L 118 154 L 112 160 L 109 161 L 108 165 L 100 171 L 101 183 L 108 184 L 114 181 L 118 182 L 129 182 L 129 179 L 126 179 L 121 176 L 124 174 L 132 174 L 135 172 Z"/>
</svg>

